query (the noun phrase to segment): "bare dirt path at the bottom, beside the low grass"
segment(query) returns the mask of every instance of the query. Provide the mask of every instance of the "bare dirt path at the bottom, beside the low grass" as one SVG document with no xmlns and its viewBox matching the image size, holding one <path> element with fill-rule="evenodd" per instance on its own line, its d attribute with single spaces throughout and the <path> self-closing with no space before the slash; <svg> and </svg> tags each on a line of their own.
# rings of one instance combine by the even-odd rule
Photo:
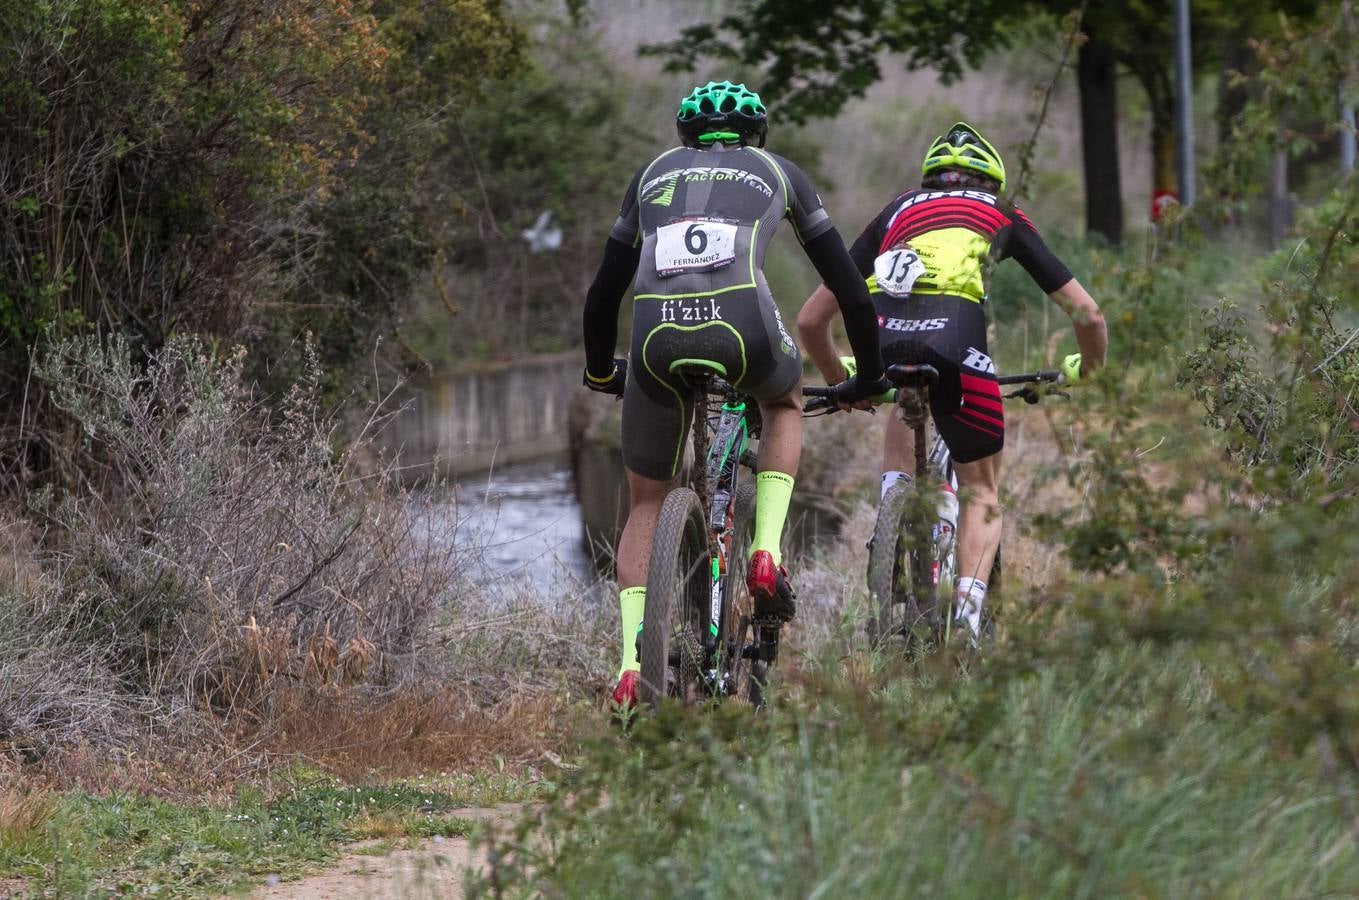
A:
<svg viewBox="0 0 1359 900">
<path fill-rule="evenodd" d="M 504 803 L 493 809 L 458 809 L 450 818 L 470 818 L 488 828 L 501 831 L 512 827 L 522 812 L 518 803 Z M 473 847 L 467 837 L 435 837 L 421 840 L 413 850 L 375 852 L 378 842 L 355 844 L 338 862 L 323 871 L 299 881 L 258 888 L 253 900 L 341 900 L 349 897 L 414 899 L 461 897 L 465 870 L 485 871 L 484 848 Z"/>
</svg>

